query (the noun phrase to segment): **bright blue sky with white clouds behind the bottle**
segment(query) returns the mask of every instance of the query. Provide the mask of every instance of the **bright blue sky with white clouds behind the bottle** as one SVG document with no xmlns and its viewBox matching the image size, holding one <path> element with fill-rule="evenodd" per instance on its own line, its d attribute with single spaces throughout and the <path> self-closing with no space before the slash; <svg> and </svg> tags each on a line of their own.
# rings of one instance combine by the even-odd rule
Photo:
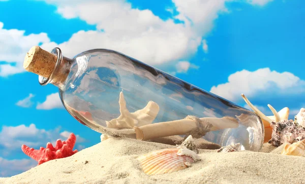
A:
<svg viewBox="0 0 305 184">
<path fill-rule="evenodd" d="M 117 50 L 242 106 L 244 93 L 266 115 L 268 103 L 290 118 L 305 107 L 305 1 L 86 2 L 0 0 L 0 177 L 37 165 L 22 143 L 39 149 L 69 132 L 78 150 L 100 142 L 22 68 L 34 45 L 67 57 Z"/>
</svg>

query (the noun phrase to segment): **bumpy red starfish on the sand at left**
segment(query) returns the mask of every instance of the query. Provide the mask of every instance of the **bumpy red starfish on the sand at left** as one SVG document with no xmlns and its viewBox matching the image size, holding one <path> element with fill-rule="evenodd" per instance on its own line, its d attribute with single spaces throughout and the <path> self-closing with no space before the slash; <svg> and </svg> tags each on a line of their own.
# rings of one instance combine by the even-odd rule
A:
<svg viewBox="0 0 305 184">
<path fill-rule="evenodd" d="M 25 155 L 38 161 L 38 165 L 40 165 L 49 160 L 61 159 L 74 155 L 78 152 L 77 150 L 72 151 L 75 142 L 76 136 L 74 133 L 71 133 L 67 141 L 57 139 L 55 148 L 52 143 L 48 142 L 46 148 L 40 147 L 39 150 L 34 150 L 34 148 L 29 148 L 22 144 L 21 150 Z"/>
</svg>

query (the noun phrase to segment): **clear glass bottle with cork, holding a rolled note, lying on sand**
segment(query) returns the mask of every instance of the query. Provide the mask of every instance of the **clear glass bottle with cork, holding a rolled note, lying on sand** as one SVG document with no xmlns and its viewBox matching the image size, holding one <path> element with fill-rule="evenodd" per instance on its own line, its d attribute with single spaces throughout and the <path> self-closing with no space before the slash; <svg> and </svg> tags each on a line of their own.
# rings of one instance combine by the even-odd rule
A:
<svg viewBox="0 0 305 184">
<path fill-rule="evenodd" d="M 261 149 L 264 128 L 254 112 L 122 53 L 94 49 L 67 58 L 59 48 L 34 46 L 23 66 L 41 85 L 57 86 L 67 111 L 105 137 L 176 145 L 192 135 L 201 149 Z"/>
</svg>

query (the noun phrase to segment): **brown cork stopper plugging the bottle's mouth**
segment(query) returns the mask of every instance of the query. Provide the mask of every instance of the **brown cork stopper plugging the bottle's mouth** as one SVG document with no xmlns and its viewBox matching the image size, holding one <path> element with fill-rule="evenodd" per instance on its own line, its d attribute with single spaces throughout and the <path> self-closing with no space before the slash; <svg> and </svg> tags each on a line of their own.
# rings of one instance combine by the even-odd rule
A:
<svg viewBox="0 0 305 184">
<path fill-rule="evenodd" d="M 48 78 L 54 70 L 57 55 L 43 50 L 39 46 L 32 47 L 26 54 L 23 68 L 39 76 Z"/>
</svg>

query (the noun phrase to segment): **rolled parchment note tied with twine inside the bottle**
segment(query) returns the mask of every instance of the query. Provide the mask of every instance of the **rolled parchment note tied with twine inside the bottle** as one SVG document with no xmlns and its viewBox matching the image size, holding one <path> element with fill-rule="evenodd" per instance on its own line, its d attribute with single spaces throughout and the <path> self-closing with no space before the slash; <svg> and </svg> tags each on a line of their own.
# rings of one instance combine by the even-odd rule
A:
<svg viewBox="0 0 305 184">
<path fill-rule="evenodd" d="M 159 137 L 187 135 L 192 133 L 196 134 L 197 136 L 204 136 L 208 131 L 238 127 L 238 121 L 231 117 L 200 119 L 188 117 L 182 120 L 154 123 L 141 127 L 135 127 L 136 138 L 140 140 L 149 140 Z M 212 125 L 211 128 L 208 128 L 209 124 Z M 202 127 L 207 127 L 207 129 L 202 130 Z M 198 137 L 195 136 L 194 138 Z"/>
</svg>

